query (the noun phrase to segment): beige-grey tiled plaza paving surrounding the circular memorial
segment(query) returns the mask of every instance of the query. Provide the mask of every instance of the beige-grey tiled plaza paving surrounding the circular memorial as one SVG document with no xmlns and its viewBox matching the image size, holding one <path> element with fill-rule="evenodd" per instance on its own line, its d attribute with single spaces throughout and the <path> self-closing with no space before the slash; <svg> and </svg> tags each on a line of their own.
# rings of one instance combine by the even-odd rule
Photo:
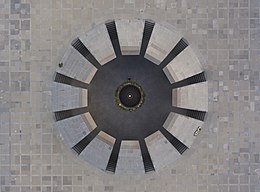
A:
<svg viewBox="0 0 260 192">
<path fill-rule="evenodd" d="M 259 0 L 0 0 L 0 189 L 260 191 Z M 53 133 L 51 80 L 72 39 L 111 18 L 168 21 L 200 49 L 209 116 L 192 149 L 155 174 L 111 176 Z"/>
</svg>

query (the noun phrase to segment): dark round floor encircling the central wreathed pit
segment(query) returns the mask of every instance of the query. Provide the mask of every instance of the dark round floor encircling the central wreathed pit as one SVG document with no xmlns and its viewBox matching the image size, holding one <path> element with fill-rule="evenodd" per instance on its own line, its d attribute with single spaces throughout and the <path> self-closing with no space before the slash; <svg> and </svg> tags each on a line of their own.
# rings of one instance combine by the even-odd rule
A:
<svg viewBox="0 0 260 192">
<path fill-rule="evenodd" d="M 131 78 L 145 102 L 133 112 L 115 104 L 118 86 Z M 142 56 L 119 56 L 100 67 L 89 85 L 88 106 L 99 129 L 119 140 L 143 139 L 161 129 L 172 106 L 172 88 L 162 69 Z"/>
</svg>

